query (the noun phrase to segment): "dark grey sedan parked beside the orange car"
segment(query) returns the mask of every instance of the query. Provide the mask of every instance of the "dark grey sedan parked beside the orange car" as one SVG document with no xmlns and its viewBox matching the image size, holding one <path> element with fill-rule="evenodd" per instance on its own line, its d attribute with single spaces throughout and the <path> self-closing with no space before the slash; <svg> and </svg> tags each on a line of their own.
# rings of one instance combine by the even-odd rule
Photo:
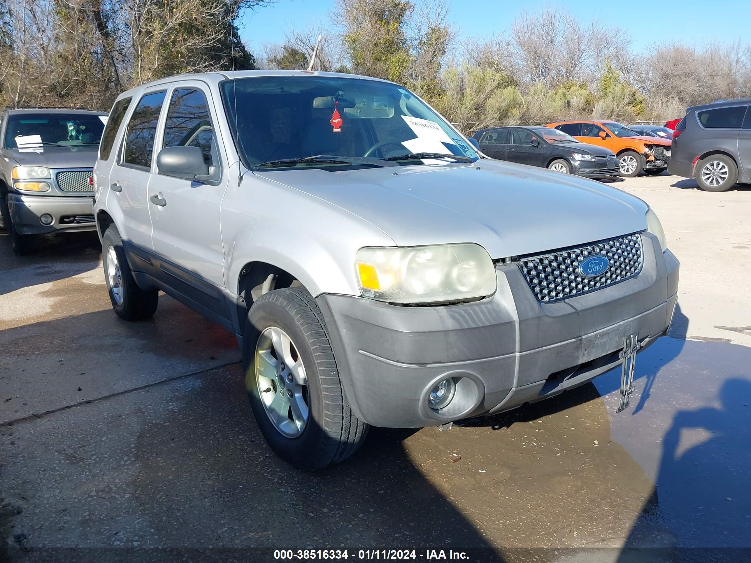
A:
<svg viewBox="0 0 751 563">
<path fill-rule="evenodd" d="M 620 172 L 618 158 L 610 149 L 581 143 L 549 127 L 496 127 L 481 129 L 473 137 L 482 152 L 502 161 L 587 178 L 615 177 Z"/>
</svg>

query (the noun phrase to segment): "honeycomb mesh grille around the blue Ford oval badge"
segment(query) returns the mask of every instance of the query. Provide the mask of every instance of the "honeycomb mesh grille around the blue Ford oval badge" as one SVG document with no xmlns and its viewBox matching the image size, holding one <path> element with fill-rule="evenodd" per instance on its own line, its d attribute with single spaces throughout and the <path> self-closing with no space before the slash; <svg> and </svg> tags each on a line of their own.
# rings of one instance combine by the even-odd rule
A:
<svg viewBox="0 0 751 563">
<path fill-rule="evenodd" d="M 579 264 L 589 257 L 605 256 L 610 267 L 593 278 L 581 275 Z M 606 288 L 641 272 L 641 236 L 632 233 L 586 246 L 522 258 L 519 268 L 538 300 L 544 303 Z"/>
</svg>

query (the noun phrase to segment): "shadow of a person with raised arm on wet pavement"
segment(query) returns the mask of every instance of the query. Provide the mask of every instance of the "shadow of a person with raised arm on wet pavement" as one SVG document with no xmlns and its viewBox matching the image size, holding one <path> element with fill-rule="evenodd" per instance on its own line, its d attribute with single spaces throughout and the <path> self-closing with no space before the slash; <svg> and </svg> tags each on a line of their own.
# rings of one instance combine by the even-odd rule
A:
<svg viewBox="0 0 751 563">
<path fill-rule="evenodd" d="M 631 561 L 645 547 L 716 551 L 751 546 L 751 380 L 725 381 L 719 402 L 719 408 L 675 415 L 663 439 L 653 493 L 619 561 Z M 698 557 L 698 550 L 692 555 Z"/>
</svg>

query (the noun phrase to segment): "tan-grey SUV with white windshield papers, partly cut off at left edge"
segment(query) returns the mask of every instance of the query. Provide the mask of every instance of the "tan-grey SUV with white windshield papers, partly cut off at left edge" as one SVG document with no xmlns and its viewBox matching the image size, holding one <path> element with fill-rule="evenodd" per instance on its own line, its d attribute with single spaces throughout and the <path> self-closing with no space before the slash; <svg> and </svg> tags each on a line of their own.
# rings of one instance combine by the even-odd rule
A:
<svg viewBox="0 0 751 563">
<path fill-rule="evenodd" d="M 39 233 L 95 230 L 92 168 L 107 113 L 65 108 L 0 112 L 0 224 L 16 254 Z"/>
</svg>

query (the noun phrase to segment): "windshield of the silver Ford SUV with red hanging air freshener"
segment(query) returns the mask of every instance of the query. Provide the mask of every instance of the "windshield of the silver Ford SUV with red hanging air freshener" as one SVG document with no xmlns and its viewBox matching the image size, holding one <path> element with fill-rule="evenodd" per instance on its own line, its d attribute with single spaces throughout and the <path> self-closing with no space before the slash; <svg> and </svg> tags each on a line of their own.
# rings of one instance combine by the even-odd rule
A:
<svg viewBox="0 0 751 563">
<path fill-rule="evenodd" d="M 403 164 L 453 162 L 422 153 L 478 158 L 441 117 L 395 84 L 338 77 L 250 77 L 222 83 L 222 96 L 240 157 L 250 167 L 394 165 L 400 155 L 415 154 L 422 158 Z M 316 155 L 351 161 L 279 162 Z"/>
</svg>

